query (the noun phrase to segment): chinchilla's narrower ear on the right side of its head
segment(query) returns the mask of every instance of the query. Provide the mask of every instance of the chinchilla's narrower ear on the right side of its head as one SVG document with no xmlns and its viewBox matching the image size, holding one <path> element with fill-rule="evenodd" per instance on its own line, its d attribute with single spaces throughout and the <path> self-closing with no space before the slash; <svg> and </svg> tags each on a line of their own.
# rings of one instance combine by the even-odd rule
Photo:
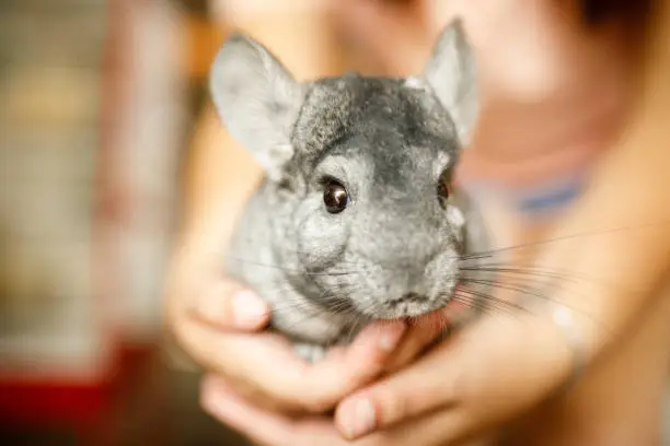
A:
<svg viewBox="0 0 670 446">
<path fill-rule="evenodd" d="M 461 19 L 440 33 L 424 79 L 453 118 L 459 139 L 470 143 L 478 115 L 478 92 L 474 51 Z"/>
</svg>

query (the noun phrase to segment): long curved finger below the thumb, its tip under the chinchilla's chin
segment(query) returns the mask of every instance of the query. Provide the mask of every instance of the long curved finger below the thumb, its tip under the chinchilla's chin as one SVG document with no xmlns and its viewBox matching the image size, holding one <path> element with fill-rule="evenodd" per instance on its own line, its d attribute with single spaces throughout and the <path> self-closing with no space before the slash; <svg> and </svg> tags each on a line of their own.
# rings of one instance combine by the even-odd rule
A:
<svg viewBox="0 0 670 446">
<path fill-rule="evenodd" d="M 323 412 L 383 369 L 404 324 L 363 329 L 351 345 L 316 364 L 300 360 L 292 345 L 274 333 L 221 333 L 187 321 L 178 332 L 205 367 L 277 401 L 286 411 Z"/>
</svg>

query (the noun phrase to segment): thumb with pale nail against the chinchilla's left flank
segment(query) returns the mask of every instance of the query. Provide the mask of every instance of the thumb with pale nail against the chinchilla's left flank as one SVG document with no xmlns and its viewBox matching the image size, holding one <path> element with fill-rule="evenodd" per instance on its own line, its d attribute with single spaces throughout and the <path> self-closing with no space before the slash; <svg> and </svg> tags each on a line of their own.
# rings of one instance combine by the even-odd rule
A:
<svg viewBox="0 0 670 446">
<path fill-rule="evenodd" d="M 205 290 L 190 316 L 213 328 L 258 330 L 269 321 L 268 305 L 253 291 L 226 280 Z"/>
</svg>

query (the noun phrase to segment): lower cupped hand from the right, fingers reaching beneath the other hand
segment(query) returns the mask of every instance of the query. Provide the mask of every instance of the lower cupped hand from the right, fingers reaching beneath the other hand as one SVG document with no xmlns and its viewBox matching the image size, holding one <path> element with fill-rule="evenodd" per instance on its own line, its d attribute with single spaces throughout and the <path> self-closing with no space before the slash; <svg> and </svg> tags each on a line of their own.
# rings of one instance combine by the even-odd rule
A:
<svg viewBox="0 0 670 446">
<path fill-rule="evenodd" d="M 258 408 L 215 377 L 205 380 L 201 403 L 262 445 L 443 445 L 494 429 L 546 398 L 569 377 L 571 361 L 551 321 L 494 314 L 346 397 L 334 420 Z"/>
</svg>

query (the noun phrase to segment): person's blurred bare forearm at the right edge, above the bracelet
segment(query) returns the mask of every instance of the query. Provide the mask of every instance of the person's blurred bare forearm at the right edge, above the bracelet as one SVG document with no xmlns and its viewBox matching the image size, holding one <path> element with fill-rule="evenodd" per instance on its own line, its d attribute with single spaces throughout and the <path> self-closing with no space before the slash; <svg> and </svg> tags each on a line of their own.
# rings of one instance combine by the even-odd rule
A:
<svg viewBox="0 0 670 446">
<path fill-rule="evenodd" d="M 589 233 L 578 254 L 573 243 L 551 244 L 546 259 L 592 280 L 580 282 L 580 307 L 623 327 L 651 305 L 670 267 L 670 11 L 662 2 L 654 23 L 640 101 L 620 141 L 603 155 L 584 197 L 559 234 Z M 596 234 L 600 232 L 600 234 Z M 561 251 L 558 254 L 558 251 Z M 557 255 L 558 254 L 558 255 Z M 603 287 L 607 284 L 607 287 Z M 604 291 L 604 292 L 603 292 Z M 585 307 L 585 305 L 587 307 Z"/>
</svg>

